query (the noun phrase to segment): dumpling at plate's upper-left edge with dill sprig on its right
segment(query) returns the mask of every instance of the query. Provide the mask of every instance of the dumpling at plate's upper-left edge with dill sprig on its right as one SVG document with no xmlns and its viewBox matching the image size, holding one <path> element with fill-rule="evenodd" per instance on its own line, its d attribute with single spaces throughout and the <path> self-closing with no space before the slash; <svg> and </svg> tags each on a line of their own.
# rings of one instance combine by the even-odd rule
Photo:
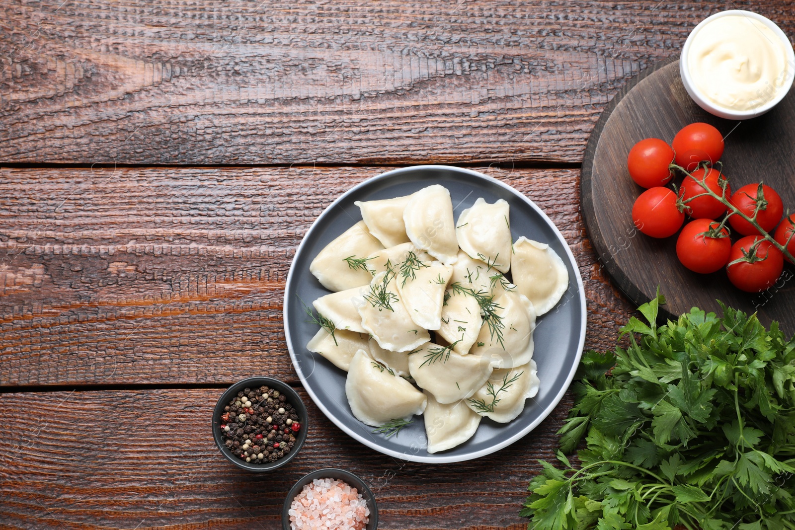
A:
<svg viewBox="0 0 795 530">
<path fill-rule="evenodd" d="M 366 257 L 382 248 L 364 222 L 359 221 L 320 250 L 309 264 L 309 271 L 329 291 L 361 287 L 373 279 Z"/>
</svg>

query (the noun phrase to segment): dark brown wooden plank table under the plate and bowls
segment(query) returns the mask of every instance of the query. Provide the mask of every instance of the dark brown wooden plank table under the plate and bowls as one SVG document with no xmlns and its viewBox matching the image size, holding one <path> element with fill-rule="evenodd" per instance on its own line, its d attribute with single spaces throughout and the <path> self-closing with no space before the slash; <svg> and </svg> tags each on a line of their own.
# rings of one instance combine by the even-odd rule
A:
<svg viewBox="0 0 795 530">
<path fill-rule="evenodd" d="M 627 79 L 732 6 L 795 34 L 787 0 L 0 2 L 0 528 L 279 528 L 323 466 L 370 482 L 381 528 L 524 528 L 570 396 L 441 466 L 308 402 L 308 443 L 269 476 L 219 455 L 211 408 L 250 375 L 303 392 L 281 321 L 294 250 L 337 195 L 409 164 L 533 199 L 580 265 L 586 348 L 614 345 L 632 307 L 580 217 L 585 142 Z"/>
</svg>

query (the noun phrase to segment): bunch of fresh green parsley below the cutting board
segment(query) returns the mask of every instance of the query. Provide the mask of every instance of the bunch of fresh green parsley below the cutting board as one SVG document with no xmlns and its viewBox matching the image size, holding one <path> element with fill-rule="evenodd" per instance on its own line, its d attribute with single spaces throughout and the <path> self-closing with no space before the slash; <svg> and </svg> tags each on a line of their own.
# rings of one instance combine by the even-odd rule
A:
<svg viewBox="0 0 795 530">
<path fill-rule="evenodd" d="M 628 348 L 584 355 L 563 469 L 541 462 L 529 528 L 795 528 L 795 339 L 723 305 L 657 327 L 664 303 L 622 328 Z"/>
</svg>

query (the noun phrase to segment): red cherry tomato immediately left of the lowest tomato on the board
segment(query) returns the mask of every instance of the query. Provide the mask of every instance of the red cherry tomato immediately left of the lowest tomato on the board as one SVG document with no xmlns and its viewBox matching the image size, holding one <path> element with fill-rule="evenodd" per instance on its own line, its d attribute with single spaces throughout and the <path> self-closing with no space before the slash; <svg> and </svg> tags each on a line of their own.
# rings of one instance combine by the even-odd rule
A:
<svg viewBox="0 0 795 530">
<path fill-rule="evenodd" d="M 729 231 L 712 219 L 688 222 L 677 239 L 677 257 L 694 273 L 714 273 L 729 262 Z M 712 234 L 715 234 L 714 236 Z"/>
</svg>

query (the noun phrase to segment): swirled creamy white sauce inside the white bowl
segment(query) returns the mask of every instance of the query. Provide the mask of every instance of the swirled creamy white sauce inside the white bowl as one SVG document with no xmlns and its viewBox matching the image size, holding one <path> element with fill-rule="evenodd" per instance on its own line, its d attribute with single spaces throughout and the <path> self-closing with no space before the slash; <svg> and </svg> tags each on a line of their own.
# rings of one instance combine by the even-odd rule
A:
<svg viewBox="0 0 795 530">
<path fill-rule="evenodd" d="M 686 51 L 692 86 L 704 99 L 723 109 L 746 111 L 789 90 L 795 67 L 788 61 L 792 45 L 773 29 L 744 14 L 705 22 L 688 39 Z"/>
</svg>

